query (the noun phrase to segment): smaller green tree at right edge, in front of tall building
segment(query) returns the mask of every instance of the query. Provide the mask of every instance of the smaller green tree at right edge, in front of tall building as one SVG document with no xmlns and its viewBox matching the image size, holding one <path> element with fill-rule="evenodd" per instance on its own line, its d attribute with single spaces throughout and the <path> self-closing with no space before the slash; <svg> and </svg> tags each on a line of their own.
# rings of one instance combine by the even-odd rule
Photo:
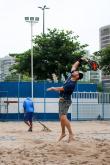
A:
<svg viewBox="0 0 110 165">
<path fill-rule="evenodd" d="M 100 69 L 107 75 L 110 74 L 110 46 L 95 52 L 94 55 L 99 59 Z"/>
</svg>

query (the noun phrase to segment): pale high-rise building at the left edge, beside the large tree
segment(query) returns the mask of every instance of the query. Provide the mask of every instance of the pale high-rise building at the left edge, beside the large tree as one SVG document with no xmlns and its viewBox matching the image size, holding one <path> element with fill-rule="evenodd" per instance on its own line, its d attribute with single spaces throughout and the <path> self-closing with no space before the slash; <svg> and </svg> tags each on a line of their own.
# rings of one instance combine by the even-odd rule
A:
<svg viewBox="0 0 110 165">
<path fill-rule="evenodd" d="M 11 56 L 0 58 L 0 81 L 4 81 L 9 74 L 9 68 L 15 63 L 15 59 Z"/>
</svg>

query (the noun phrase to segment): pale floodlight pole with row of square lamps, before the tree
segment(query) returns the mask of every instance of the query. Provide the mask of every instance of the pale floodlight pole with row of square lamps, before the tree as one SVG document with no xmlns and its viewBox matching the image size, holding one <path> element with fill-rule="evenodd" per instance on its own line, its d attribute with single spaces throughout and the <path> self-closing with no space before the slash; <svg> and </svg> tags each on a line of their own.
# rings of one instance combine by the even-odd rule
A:
<svg viewBox="0 0 110 165">
<path fill-rule="evenodd" d="M 39 21 L 39 17 L 25 17 L 25 21 L 31 24 L 31 97 L 33 99 L 33 24 Z"/>
</svg>

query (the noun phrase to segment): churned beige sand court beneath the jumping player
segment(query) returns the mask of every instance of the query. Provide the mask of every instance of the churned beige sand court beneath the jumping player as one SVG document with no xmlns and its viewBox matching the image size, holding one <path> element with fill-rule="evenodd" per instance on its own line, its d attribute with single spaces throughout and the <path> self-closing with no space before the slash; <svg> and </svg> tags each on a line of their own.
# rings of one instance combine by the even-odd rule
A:
<svg viewBox="0 0 110 165">
<path fill-rule="evenodd" d="M 0 165 L 110 165 L 110 121 L 72 121 L 75 140 L 60 136 L 59 122 L 0 122 Z"/>
</svg>

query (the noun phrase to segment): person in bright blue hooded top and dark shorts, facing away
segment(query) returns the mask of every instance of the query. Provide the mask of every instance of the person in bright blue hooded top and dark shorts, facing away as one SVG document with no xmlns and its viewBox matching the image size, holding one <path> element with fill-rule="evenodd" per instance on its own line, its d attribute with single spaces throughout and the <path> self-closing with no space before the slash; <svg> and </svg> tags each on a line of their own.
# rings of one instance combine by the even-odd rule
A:
<svg viewBox="0 0 110 165">
<path fill-rule="evenodd" d="M 29 126 L 28 131 L 32 132 L 33 129 L 33 113 L 34 113 L 34 103 L 31 98 L 27 97 L 23 102 L 24 108 L 24 122 Z"/>
</svg>

